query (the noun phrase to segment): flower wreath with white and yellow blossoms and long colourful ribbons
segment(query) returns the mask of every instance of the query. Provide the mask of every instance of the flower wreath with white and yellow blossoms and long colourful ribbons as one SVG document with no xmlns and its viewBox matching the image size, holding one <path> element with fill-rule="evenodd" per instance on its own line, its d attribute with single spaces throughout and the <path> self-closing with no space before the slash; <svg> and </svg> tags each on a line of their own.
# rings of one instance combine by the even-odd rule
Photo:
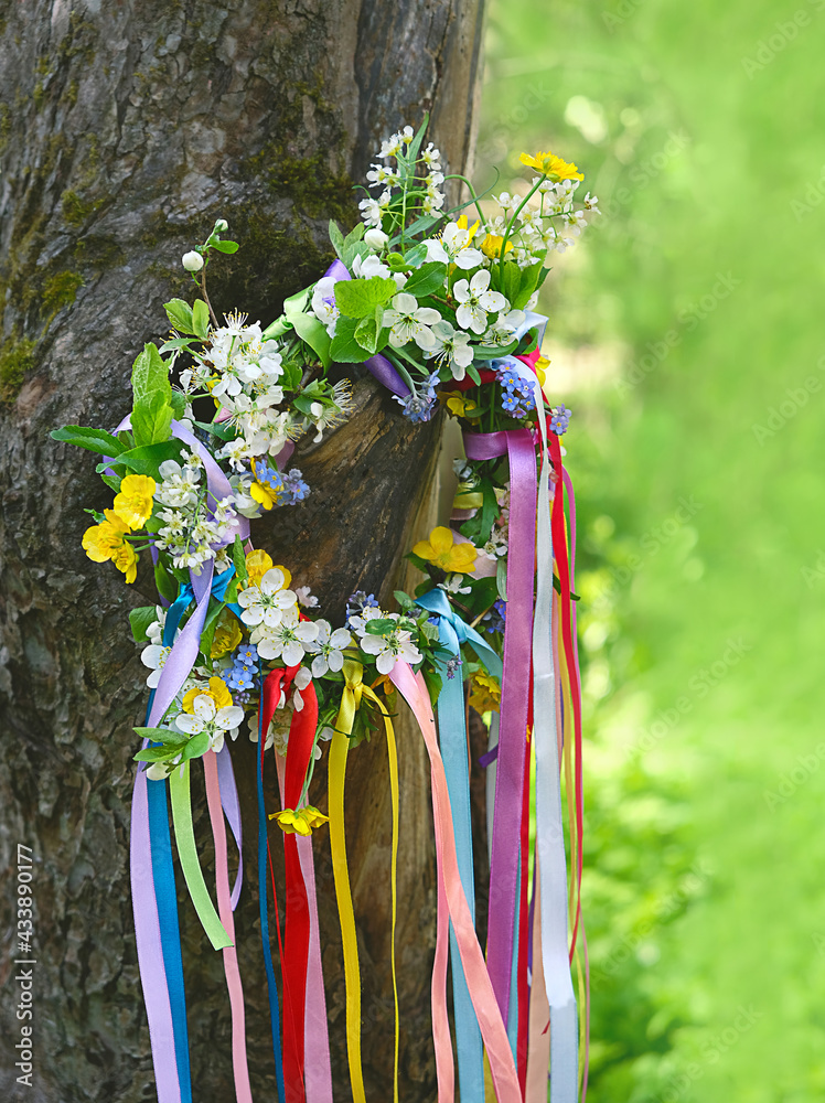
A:
<svg viewBox="0 0 825 1103">
<path fill-rule="evenodd" d="M 350 749 L 384 729 L 393 797 L 397 1101 L 395 864 L 403 794 L 392 724 L 396 693 L 413 709 L 431 762 L 439 1101 L 453 1093 L 448 957 L 461 1097 L 484 1097 L 485 1056 L 502 1103 L 521 1101 L 528 1082 L 546 1085 L 548 1065 L 555 1103 L 571 1103 L 579 1094 L 569 967 L 574 956 L 578 962 L 582 853 L 571 589 L 576 514 L 559 439 L 570 411 L 545 398 L 546 319 L 533 308 L 549 270 L 548 253 L 570 247 L 598 206 L 588 194 L 576 207 L 581 173 L 545 152 L 522 154 L 536 172 L 523 194 L 476 195 L 465 178 L 444 175 L 438 149 L 431 142 L 424 147 L 425 130 L 426 120 L 418 132 L 406 127 L 382 144 L 367 173 L 362 223 L 347 236 L 330 224 L 338 259 L 312 287 L 288 299 L 282 315 L 266 329 L 237 312 L 221 324 L 212 308 L 208 265 L 216 254 L 238 248 L 225 239 L 227 223 L 218 219 L 207 239 L 183 257 L 199 297 L 165 304 L 170 339 L 160 347 L 147 344 L 135 362 L 129 416 L 111 432 L 66 426 L 52 435 L 97 452 L 97 470 L 115 495 L 103 513 L 87 511 L 95 524 L 83 537 L 86 554 L 110 560 L 133 582 L 140 556 L 148 553 L 160 600 L 129 614 L 150 672 L 146 722 L 135 729 L 142 747 L 135 756 L 130 850 L 160 1103 L 192 1099 L 170 805 L 192 902 L 212 945 L 224 954 L 237 1101 L 251 1103 L 234 947 L 242 869 L 231 889 L 225 835 L 226 818 L 239 850 L 229 748 L 245 720 L 259 746 L 259 907 L 279 1103 L 332 1100 L 310 842 L 328 823 L 343 938 L 350 1079 L 353 1099 L 365 1100 L 344 770 Z M 441 185 L 450 179 L 460 180 L 471 199 L 444 213 Z M 472 223 L 459 214 L 467 207 L 473 208 Z M 372 593 L 353 593 L 340 627 L 319 618 L 310 588 L 293 589 L 289 568 L 249 540 L 251 520 L 298 505 L 310 493 L 301 471 L 290 467 L 300 441 L 309 433 L 321 440 L 352 410 L 350 384 L 331 382 L 332 364 L 365 364 L 411 421 L 428 420 L 443 406 L 462 426 L 467 453 L 457 461 L 450 525 L 436 527 L 408 554 L 426 581 L 413 595 L 396 591 L 396 610 L 379 608 Z M 211 420 L 196 417 L 204 399 L 214 403 Z M 465 684 L 469 704 L 485 716 L 490 731 L 482 759 L 491 858 L 486 954 L 474 930 Z M 270 747 L 281 807 L 268 814 L 262 778 Z M 325 747 L 329 816 L 310 803 L 314 763 Z M 196 760 L 203 763 L 215 837 L 217 908 L 192 826 L 190 775 Z M 570 817 L 569 909 L 559 765 Z M 280 993 L 269 945 L 267 816 L 282 829 L 285 845 Z"/>
</svg>

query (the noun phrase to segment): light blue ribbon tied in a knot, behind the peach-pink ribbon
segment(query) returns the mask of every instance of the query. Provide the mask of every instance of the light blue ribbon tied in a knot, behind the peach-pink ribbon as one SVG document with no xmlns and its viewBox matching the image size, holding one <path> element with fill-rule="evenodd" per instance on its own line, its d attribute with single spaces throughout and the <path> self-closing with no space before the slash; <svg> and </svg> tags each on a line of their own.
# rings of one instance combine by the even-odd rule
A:
<svg viewBox="0 0 825 1103">
<path fill-rule="evenodd" d="M 488 670 L 501 678 L 502 662 L 479 633 L 456 613 L 441 589 L 418 598 L 417 604 L 439 617 L 438 634 L 443 647 L 461 663 L 461 644 L 470 643 Z M 470 914 L 475 922 L 475 881 L 473 877 L 472 822 L 470 817 L 470 769 L 467 754 L 467 722 L 463 679 L 452 676 L 446 662 L 437 661 L 443 686 L 438 697 L 438 731 L 450 794 L 459 876 Z M 459 1056 L 459 1088 L 462 1100 L 484 1099 L 484 1049 L 467 978 L 461 965 L 458 942 L 450 923 L 452 999 L 456 1010 L 456 1047 Z"/>
</svg>

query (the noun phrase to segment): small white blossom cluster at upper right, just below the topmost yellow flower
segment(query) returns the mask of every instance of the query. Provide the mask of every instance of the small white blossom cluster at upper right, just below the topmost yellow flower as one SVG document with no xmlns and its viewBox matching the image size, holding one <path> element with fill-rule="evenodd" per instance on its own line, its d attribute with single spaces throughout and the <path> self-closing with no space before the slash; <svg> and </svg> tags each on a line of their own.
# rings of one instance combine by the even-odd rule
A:
<svg viewBox="0 0 825 1103">
<path fill-rule="evenodd" d="M 543 259 L 547 253 L 565 253 L 571 248 L 587 226 L 588 214 L 600 214 L 597 205 L 599 201 L 589 192 L 582 206 L 574 205 L 578 180 L 562 180 L 558 183 L 550 180 L 539 183 L 539 176 L 533 178 L 532 186 L 538 185 L 538 190 L 521 211 L 521 195 L 511 195 L 510 192 L 497 195 L 495 201 L 503 214 L 490 222 L 490 232 L 501 236 L 515 214 L 516 225 L 511 231 L 508 240 L 513 250 L 507 251 L 507 259 L 515 260 L 523 268 Z M 550 221 L 553 218 L 560 218 L 560 229 L 554 226 Z"/>
</svg>

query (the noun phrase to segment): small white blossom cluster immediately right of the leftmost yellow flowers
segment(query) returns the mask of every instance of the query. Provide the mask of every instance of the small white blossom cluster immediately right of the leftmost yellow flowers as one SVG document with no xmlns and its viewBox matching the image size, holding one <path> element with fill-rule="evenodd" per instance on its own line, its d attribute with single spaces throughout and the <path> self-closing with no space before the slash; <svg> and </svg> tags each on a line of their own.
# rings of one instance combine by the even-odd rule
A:
<svg viewBox="0 0 825 1103">
<path fill-rule="evenodd" d="M 175 567 L 191 567 L 200 572 L 202 564 L 215 559 L 218 574 L 229 566 L 223 548 L 232 538 L 236 512 L 232 497 L 207 504 L 202 483 L 203 461 L 196 452 L 184 452 L 181 467 L 176 460 L 160 465 L 161 482 L 154 497 L 165 508 L 158 514 L 163 522 L 156 547 L 172 554 Z"/>
</svg>

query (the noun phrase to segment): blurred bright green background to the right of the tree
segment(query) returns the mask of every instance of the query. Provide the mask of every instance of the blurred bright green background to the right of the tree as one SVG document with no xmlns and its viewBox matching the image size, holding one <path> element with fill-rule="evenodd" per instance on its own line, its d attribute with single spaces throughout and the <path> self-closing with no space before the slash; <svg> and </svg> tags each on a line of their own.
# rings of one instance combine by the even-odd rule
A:
<svg viewBox="0 0 825 1103">
<path fill-rule="evenodd" d="M 475 180 L 576 161 L 591 1103 L 825 1099 L 825 0 L 492 0 Z"/>
</svg>

